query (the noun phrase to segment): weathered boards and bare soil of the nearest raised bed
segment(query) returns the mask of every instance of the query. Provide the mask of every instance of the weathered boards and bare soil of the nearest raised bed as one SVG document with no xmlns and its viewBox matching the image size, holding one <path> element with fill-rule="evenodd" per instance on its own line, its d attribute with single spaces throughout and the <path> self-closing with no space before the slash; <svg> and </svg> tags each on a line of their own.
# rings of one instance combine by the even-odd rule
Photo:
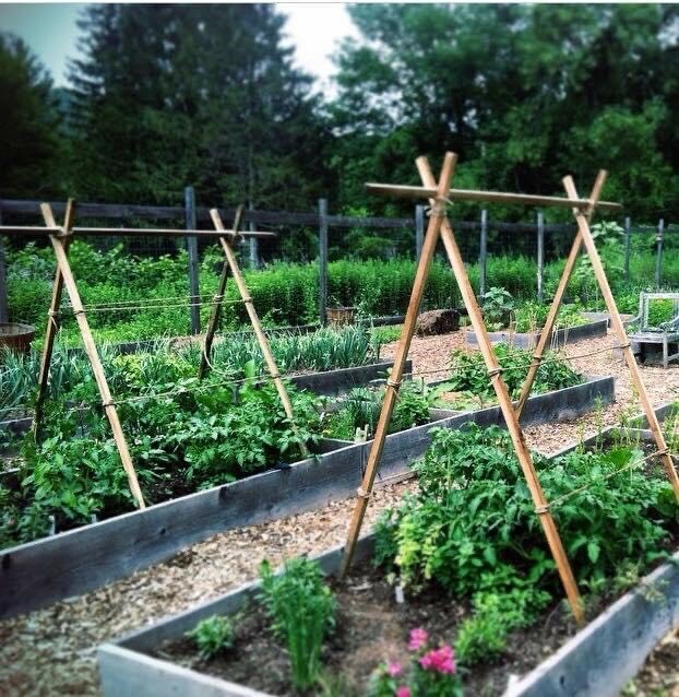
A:
<svg viewBox="0 0 679 697">
<path fill-rule="evenodd" d="M 612 430 L 585 442 L 606 439 Z M 639 437 L 643 439 L 645 435 L 641 433 Z M 380 661 L 393 659 L 405 663 L 408 659 L 405 646 L 401 655 L 394 657 L 392 651 L 400 642 L 405 643 L 409 628 L 426 623 L 440 638 L 456 630 L 469 614 L 464 602 L 438 592 L 408 595 L 405 604 L 401 604 L 393 587 L 365 564 L 373 554 L 374 542 L 372 535 L 359 542 L 346 584 L 340 587 L 331 581 L 340 610 L 335 635 L 329 639 L 324 653 L 325 665 L 331 673 L 362 681 L 361 692 L 346 692 L 352 695 L 365 694 L 365 681 Z M 676 532 L 666 542 L 676 545 Z M 337 547 L 315 558 L 325 574 L 334 575 L 342 554 L 343 548 Z M 545 610 L 533 626 L 509 635 L 499 658 L 466 669 L 467 694 L 618 695 L 654 645 L 679 625 L 678 563 L 679 553 L 577 633 L 568 611 L 559 605 Z M 260 592 L 259 582 L 247 583 L 100 647 L 98 663 L 104 694 L 106 697 L 291 694 L 285 676 L 289 670 L 286 653 L 276 641 L 266 639 L 271 621 L 258 610 Z M 610 598 L 611 594 L 606 602 Z M 240 615 L 236 621 L 236 647 L 230 654 L 210 661 L 199 659 L 186 634 L 202 619 L 237 613 Z M 239 627 L 242 636 L 238 634 Z M 570 636 L 573 638 L 569 640 Z M 551 655 L 545 660 L 546 650 Z M 517 678 L 516 674 L 524 676 Z M 356 690 L 356 684 L 347 684 Z"/>
</svg>

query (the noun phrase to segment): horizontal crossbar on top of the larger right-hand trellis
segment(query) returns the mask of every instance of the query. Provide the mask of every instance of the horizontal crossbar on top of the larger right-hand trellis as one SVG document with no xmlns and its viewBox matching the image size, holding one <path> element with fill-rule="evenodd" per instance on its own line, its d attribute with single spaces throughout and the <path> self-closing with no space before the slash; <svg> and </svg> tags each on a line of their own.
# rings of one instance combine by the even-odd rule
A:
<svg viewBox="0 0 679 697">
<path fill-rule="evenodd" d="M 370 193 L 384 193 L 404 199 L 432 199 L 436 198 L 436 189 L 429 187 L 400 186 L 393 184 L 368 182 L 366 189 Z M 533 193 L 507 193 L 504 191 L 476 191 L 473 189 L 451 189 L 449 197 L 458 201 L 479 201 L 484 203 L 520 203 L 522 205 L 541 205 L 562 209 L 587 208 L 591 201 L 587 199 L 564 199 L 558 196 L 536 196 Z M 620 203 L 599 201 L 596 208 L 601 211 L 620 211 Z"/>
</svg>

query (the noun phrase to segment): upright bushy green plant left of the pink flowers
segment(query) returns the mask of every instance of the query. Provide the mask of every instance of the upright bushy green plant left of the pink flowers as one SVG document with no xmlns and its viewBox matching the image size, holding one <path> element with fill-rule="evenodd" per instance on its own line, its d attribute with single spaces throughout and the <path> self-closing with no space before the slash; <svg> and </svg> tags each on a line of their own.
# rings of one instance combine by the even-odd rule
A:
<svg viewBox="0 0 679 697">
<path fill-rule="evenodd" d="M 275 637 L 287 648 L 293 684 L 309 689 L 321 675 L 321 649 L 335 625 L 335 599 L 318 563 L 310 559 L 286 560 L 279 576 L 264 560 L 261 577 L 261 601 Z"/>
</svg>

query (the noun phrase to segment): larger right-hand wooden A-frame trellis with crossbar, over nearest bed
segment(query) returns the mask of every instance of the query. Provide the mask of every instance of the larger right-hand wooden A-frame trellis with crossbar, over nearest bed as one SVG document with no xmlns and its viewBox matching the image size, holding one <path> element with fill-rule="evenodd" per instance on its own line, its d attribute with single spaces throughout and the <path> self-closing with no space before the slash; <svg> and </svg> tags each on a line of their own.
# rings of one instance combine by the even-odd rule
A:
<svg viewBox="0 0 679 697">
<path fill-rule="evenodd" d="M 519 463 L 521 464 L 523 475 L 528 485 L 531 496 L 533 497 L 536 515 L 539 517 L 539 521 L 543 525 L 543 531 L 545 533 L 545 536 L 547 537 L 547 543 L 557 565 L 559 576 L 561 578 L 561 582 L 565 590 L 565 594 L 568 596 L 573 614 L 575 615 L 577 622 L 581 622 L 583 619 L 583 609 L 577 590 L 577 583 L 573 576 L 569 558 L 563 548 L 563 544 L 561 542 L 556 522 L 551 516 L 550 504 L 547 500 L 545 493 L 543 492 L 537 472 L 533 464 L 531 452 L 526 446 L 523 430 L 520 425 L 520 417 L 523 406 L 531 393 L 533 381 L 543 359 L 545 347 L 547 346 L 547 343 L 551 336 L 559 307 L 563 299 L 565 287 L 571 277 L 571 274 L 575 267 L 575 262 L 577 261 L 581 246 L 583 244 L 592 261 L 592 268 L 601 290 L 604 299 L 606 300 L 606 306 L 611 318 L 611 327 L 618 338 L 619 347 L 623 352 L 624 359 L 630 368 L 634 387 L 639 392 L 646 420 L 648 422 L 651 430 L 653 432 L 657 445 L 657 452 L 655 454 L 662 458 L 663 464 L 667 472 L 667 476 L 669 477 L 671 486 L 675 491 L 675 495 L 679 499 L 679 477 L 677 476 L 677 471 L 668 452 L 657 416 L 653 410 L 653 406 L 651 405 L 651 401 L 648 400 L 648 394 L 642 380 L 641 371 L 634 359 L 634 355 L 630 346 L 630 341 L 624 331 L 622 320 L 620 319 L 616 302 L 614 299 L 608 280 L 606 277 L 606 272 L 604 271 L 600 257 L 594 244 L 592 232 L 589 231 L 589 220 L 595 209 L 598 208 L 600 210 L 615 211 L 620 209 L 621 206 L 618 203 L 599 201 L 601 189 L 606 180 L 606 173 L 604 170 L 599 172 L 588 199 L 580 199 L 577 197 L 575 185 L 571 177 L 565 177 L 563 179 L 563 186 L 565 188 L 568 198 L 558 198 L 520 193 L 504 193 L 497 191 L 467 191 L 451 189 L 451 181 L 453 178 L 455 162 L 456 155 L 454 153 L 449 152 L 445 154 L 441 175 L 439 181 L 437 182 L 427 160 L 425 157 L 419 157 L 416 161 L 416 165 L 420 175 L 420 179 L 422 181 L 421 187 L 403 187 L 380 184 L 367 185 L 368 190 L 376 193 L 428 199 L 431 205 L 431 213 L 425 243 L 417 264 L 417 271 L 415 274 L 415 281 L 413 283 L 413 291 L 408 303 L 408 309 L 405 316 L 401 339 L 398 341 L 398 349 L 394 358 L 394 366 L 392 369 L 392 374 L 386 382 L 388 388 L 384 395 L 384 402 L 382 403 L 382 410 L 380 412 L 380 417 L 374 432 L 374 439 L 370 448 L 365 475 L 361 485 L 358 488 L 358 498 L 349 523 L 349 531 L 342 564 L 342 575 L 344 576 L 347 572 L 352 564 L 356 542 L 360 533 L 369 498 L 372 494 L 374 480 L 384 448 L 386 429 L 396 400 L 398 398 L 398 388 L 401 386 L 408 350 L 410 347 L 410 342 L 415 332 L 417 314 L 419 311 L 421 298 L 424 295 L 427 275 L 431 265 L 431 261 L 433 259 L 439 237 L 441 237 L 443 246 L 445 248 L 445 252 L 452 265 L 455 280 L 457 281 L 464 306 L 469 315 L 472 327 L 476 333 L 476 336 L 478 338 L 478 345 L 486 363 L 488 377 L 498 397 L 500 410 L 510 433 L 514 451 L 519 459 Z M 512 403 L 509 391 L 507 389 L 507 385 L 502 378 L 502 366 L 499 365 L 498 359 L 492 351 L 479 304 L 472 288 L 472 284 L 469 283 L 469 277 L 462 260 L 462 255 L 460 253 L 460 248 L 457 247 L 457 243 L 453 234 L 453 228 L 446 217 L 445 206 L 446 204 L 455 200 L 570 208 L 573 211 L 573 215 L 575 216 L 575 221 L 577 223 L 577 234 L 569 253 L 563 274 L 552 300 L 547 321 L 545 322 L 545 327 L 543 328 L 540 339 L 533 354 L 533 361 L 529 367 L 529 371 L 524 382 L 521 397 L 516 404 Z"/>
</svg>

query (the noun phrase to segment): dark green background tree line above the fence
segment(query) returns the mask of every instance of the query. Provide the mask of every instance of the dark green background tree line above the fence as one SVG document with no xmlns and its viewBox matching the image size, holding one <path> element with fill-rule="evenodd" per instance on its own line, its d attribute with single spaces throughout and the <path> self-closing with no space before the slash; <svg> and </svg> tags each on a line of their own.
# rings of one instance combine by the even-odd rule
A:
<svg viewBox="0 0 679 697">
<path fill-rule="evenodd" d="M 205 202 L 410 214 L 364 182 L 417 184 L 417 154 L 454 150 L 457 186 L 562 193 L 572 173 L 586 194 L 606 167 L 627 214 L 679 218 L 679 8 L 349 12 L 361 38 L 332 98 L 293 67 L 272 4 L 90 5 L 68 90 L 1 36 L 0 194 L 176 204 L 192 184 Z"/>
</svg>

